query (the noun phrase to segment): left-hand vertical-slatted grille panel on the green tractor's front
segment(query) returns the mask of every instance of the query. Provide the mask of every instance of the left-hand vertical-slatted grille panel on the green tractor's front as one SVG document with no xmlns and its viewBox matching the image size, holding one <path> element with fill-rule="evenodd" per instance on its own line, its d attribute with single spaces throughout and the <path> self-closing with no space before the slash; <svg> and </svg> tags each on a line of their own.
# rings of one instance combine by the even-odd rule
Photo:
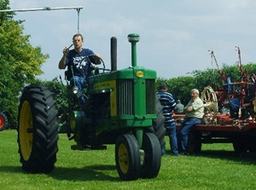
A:
<svg viewBox="0 0 256 190">
<path fill-rule="evenodd" d="M 118 80 L 117 89 L 118 89 L 118 95 L 117 95 L 118 115 L 133 115 L 134 114 L 133 80 Z"/>
</svg>

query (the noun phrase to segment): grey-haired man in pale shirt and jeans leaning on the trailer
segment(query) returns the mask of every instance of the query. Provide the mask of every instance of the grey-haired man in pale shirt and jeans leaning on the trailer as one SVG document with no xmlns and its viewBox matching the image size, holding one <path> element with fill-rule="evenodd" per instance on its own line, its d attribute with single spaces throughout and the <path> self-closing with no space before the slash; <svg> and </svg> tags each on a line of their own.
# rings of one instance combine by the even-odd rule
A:
<svg viewBox="0 0 256 190">
<path fill-rule="evenodd" d="M 201 124 L 204 115 L 204 104 L 199 97 L 198 89 L 190 90 L 191 100 L 184 108 L 185 118 L 180 130 L 177 131 L 178 150 L 180 154 L 188 154 L 188 135 L 195 124 Z"/>
</svg>

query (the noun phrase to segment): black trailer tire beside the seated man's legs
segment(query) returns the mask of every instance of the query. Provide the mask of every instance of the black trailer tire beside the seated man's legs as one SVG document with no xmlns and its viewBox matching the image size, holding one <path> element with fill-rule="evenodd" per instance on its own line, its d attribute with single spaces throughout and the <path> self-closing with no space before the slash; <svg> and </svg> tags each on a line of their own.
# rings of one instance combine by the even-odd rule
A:
<svg viewBox="0 0 256 190">
<path fill-rule="evenodd" d="M 188 139 L 188 153 L 197 154 L 201 153 L 201 133 L 196 131 L 189 132 Z"/>
</svg>

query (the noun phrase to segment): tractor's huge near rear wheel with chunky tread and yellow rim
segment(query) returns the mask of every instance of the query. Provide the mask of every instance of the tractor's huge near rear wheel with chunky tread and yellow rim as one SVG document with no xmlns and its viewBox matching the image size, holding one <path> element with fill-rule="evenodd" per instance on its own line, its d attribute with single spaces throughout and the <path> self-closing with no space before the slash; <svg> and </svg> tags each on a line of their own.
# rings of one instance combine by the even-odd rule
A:
<svg viewBox="0 0 256 190">
<path fill-rule="evenodd" d="M 20 97 L 18 144 L 22 169 L 49 173 L 58 152 L 57 110 L 52 93 L 44 86 L 29 85 Z"/>
</svg>

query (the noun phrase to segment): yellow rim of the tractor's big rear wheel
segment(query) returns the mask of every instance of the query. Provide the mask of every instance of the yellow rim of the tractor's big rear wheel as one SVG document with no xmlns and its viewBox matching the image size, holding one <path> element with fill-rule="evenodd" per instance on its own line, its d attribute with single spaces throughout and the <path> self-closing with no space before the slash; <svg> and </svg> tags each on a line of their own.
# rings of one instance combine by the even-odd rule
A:
<svg viewBox="0 0 256 190">
<path fill-rule="evenodd" d="M 32 133 L 28 133 L 27 129 L 32 130 L 32 112 L 28 101 L 24 101 L 20 110 L 20 128 L 19 128 L 19 139 L 20 139 L 20 151 L 22 157 L 25 160 L 30 158 L 32 152 Z"/>
</svg>

